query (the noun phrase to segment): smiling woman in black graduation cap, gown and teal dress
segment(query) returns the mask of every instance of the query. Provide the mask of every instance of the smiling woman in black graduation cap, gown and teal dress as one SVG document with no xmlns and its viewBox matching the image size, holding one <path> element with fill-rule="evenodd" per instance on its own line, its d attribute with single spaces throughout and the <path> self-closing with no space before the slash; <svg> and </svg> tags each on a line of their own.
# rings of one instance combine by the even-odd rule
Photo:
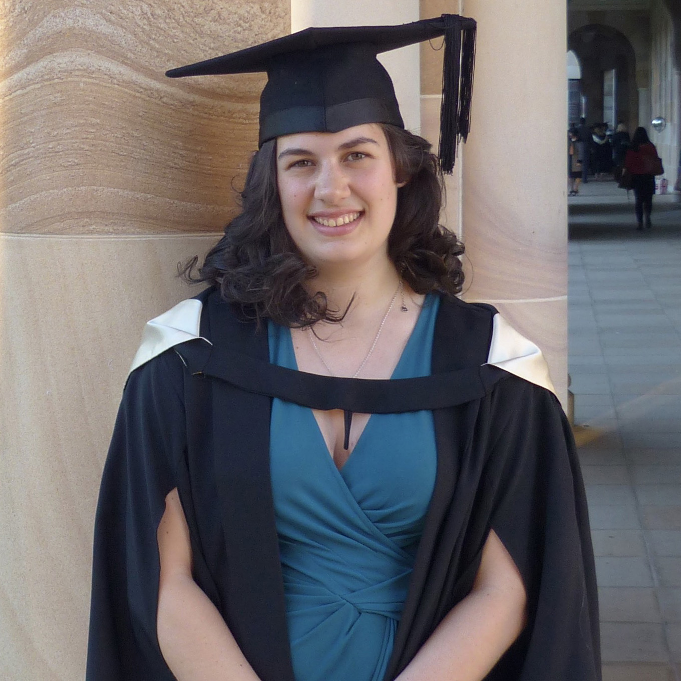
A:
<svg viewBox="0 0 681 681">
<path fill-rule="evenodd" d="M 89 679 L 599 678 L 569 426 L 536 346 L 456 298 L 437 158 L 375 59 L 445 34 L 451 170 L 474 30 L 309 29 L 180 71 L 266 67 L 260 149 L 210 287 L 133 362 Z"/>
</svg>

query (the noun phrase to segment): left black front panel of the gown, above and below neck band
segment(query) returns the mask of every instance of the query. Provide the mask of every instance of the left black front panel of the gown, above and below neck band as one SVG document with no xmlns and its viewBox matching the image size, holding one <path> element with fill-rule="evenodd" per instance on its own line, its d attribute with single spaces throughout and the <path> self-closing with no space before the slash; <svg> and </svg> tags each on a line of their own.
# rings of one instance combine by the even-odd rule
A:
<svg viewBox="0 0 681 681">
<path fill-rule="evenodd" d="M 208 300 L 214 347 L 268 361 L 266 327 L 242 323 L 218 296 Z M 212 384 L 215 479 L 225 534 L 225 621 L 264 681 L 294 681 L 279 541 L 270 484 L 271 398 Z"/>
</svg>

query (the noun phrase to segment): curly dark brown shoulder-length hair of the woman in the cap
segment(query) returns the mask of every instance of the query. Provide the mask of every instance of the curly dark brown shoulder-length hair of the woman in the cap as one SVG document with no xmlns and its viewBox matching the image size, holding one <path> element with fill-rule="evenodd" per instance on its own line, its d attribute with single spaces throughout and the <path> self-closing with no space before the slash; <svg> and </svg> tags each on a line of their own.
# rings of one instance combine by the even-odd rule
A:
<svg viewBox="0 0 681 681">
<path fill-rule="evenodd" d="M 393 125 L 381 124 L 394 161 L 398 189 L 395 221 L 388 237 L 388 256 L 418 294 L 460 293 L 464 274 L 463 244 L 440 224 L 443 184 L 430 142 Z M 276 140 L 253 155 L 242 211 L 225 227 L 225 236 L 208 251 L 180 264 L 186 281 L 209 283 L 241 308 L 244 317 L 272 319 L 291 328 L 340 321 L 346 311 L 329 308 L 321 291 L 310 294 L 306 283 L 317 271 L 304 262 L 284 224 L 276 183 Z"/>
</svg>

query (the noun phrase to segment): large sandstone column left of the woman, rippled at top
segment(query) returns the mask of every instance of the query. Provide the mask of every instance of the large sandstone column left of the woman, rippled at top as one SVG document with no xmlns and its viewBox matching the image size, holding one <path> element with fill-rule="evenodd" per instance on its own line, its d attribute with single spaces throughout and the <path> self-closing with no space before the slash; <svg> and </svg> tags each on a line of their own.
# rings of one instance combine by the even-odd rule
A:
<svg viewBox="0 0 681 681">
<path fill-rule="evenodd" d="M 0 678 L 84 674 L 127 368 L 257 144 L 261 76 L 163 72 L 289 25 L 288 0 L 0 3 Z"/>
</svg>

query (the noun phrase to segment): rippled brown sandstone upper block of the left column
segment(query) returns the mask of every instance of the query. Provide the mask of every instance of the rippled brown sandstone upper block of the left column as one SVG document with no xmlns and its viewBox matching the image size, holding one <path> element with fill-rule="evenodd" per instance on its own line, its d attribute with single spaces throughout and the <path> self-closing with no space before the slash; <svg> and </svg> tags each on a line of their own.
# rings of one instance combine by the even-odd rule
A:
<svg viewBox="0 0 681 681">
<path fill-rule="evenodd" d="M 223 227 L 264 76 L 163 74 L 285 35 L 288 1 L 6 0 L 0 25 L 0 232 Z"/>
</svg>

